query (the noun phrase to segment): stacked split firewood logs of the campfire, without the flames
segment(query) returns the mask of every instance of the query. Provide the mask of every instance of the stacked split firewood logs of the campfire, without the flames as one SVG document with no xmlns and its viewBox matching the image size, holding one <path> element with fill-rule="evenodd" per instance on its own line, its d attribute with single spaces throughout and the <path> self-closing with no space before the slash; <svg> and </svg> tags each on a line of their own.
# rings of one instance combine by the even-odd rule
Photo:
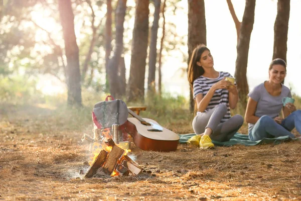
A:
<svg viewBox="0 0 301 201">
<path fill-rule="evenodd" d="M 115 145 L 111 138 L 105 144 L 108 147 L 106 147 L 106 150 L 101 150 L 84 178 L 91 178 L 100 167 L 102 167 L 104 173 L 112 176 L 127 176 L 129 173 L 138 175 L 141 172 L 138 164 L 126 156 L 126 151 Z"/>
</svg>

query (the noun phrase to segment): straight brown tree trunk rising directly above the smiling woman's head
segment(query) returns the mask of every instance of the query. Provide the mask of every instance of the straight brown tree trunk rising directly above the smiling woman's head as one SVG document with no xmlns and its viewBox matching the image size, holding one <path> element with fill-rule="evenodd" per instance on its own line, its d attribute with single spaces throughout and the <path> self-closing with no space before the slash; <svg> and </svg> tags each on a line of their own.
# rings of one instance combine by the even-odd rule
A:
<svg viewBox="0 0 301 201">
<path fill-rule="evenodd" d="M 273 59 L 280 58 L 286 62 L 287 32 L 290 0 L 278 0 L 277 16 L 274 24 Z"/>
</svg>

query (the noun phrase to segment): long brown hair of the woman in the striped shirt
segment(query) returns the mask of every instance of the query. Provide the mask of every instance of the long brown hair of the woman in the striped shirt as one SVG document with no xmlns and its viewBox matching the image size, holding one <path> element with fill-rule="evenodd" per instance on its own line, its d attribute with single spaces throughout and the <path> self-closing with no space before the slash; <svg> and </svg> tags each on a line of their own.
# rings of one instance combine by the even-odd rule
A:
<svg viewBox="0 0 301 201">
<path fill-rule="evenodd" d="M 202 66 L 197 65 L 197 62 L 201 60 L 201 56 L 205 50 L 210 51 L 204 44 L 198 45 L 192 52 L 191 59 L 188 65 L 188 81 L 191 87 L 193 94 L 193 82 L 199 76 L 205 73 Z M 196 102 L 195 102 L 195 113 L 197 111 Z"/>
</svg>

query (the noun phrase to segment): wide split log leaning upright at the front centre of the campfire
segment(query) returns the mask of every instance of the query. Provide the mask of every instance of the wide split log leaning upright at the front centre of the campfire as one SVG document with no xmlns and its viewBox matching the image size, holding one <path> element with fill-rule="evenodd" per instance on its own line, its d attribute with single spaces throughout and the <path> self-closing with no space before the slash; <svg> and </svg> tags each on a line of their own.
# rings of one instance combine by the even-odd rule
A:
<svg viewBox="0 0 301 201">
<path fill-rule="evenodd" d="M 123 153 L 123 149 L 117 146 L 113 146 L 112 151 L 109 153 L 109 156 L 103 166 L 102 171 L 106 174 L 111 175 L 117 165 L 118 159 L 123 155 Z"/>
</svg>

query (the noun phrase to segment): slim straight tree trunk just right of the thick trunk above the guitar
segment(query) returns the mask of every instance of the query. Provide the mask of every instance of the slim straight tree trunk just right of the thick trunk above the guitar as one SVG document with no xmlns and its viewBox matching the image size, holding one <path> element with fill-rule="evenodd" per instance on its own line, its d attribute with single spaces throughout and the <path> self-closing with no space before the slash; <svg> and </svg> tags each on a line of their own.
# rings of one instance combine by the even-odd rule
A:
<svg viewBox="0 0 301 201">
<path fill-rule="evenodd" d="M 149 92 L 156 91 L 156 63 L 157 63 L 157 39 L 160 19 L 161 0 L 154 0 L 155 13 L 152 32 L 150 33 L 149 56 L 148 56 L 148 80 L 147 90 Z"/>
</svg>

